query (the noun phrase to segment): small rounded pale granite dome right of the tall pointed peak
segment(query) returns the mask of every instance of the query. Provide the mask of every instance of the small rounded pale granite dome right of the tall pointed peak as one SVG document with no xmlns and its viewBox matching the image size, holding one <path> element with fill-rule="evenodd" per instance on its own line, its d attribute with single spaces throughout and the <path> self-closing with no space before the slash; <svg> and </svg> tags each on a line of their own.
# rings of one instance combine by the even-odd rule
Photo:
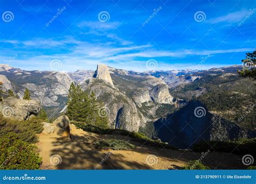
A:
<svg viewBox="0 0 256 184">
<path fill-rule="evenodd" d="M 173 104 L 173 97 L 166 84 L 158 84 L 150 90 L 150 97 L 156 103 Z"/>
</svg>

